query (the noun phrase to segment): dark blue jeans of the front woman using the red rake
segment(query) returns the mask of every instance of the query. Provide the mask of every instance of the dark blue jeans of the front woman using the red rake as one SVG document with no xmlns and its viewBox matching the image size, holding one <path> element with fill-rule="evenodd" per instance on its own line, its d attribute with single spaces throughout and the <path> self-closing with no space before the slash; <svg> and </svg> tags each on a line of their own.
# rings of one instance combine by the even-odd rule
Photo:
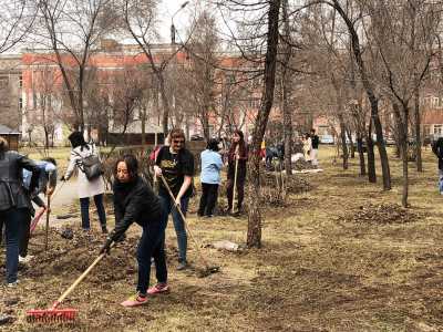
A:
<svg viewBox="0 0 443 332">
<path fill-rule="evenodd" d="M 163 207 L 163 206 L 162 206 Z M 162 208 L 159 220 L 152 220 L 143 227 L 142 238 L 137 248 L 138 282 L 137 291 L 146 294 L 151 277 L 151 257 L 154 257 L 156 278 L 158 282 L 167 282 L 165 256 L 165 229 L 167 214 Z"/>
</svg>

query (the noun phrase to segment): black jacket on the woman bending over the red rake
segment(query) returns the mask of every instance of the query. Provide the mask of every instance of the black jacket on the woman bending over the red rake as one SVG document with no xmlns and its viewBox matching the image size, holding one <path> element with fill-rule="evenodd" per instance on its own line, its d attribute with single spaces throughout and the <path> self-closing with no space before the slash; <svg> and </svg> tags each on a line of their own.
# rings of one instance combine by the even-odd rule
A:
<svg viewBox="0 0 443 332">
<path fill-rule="evenodd" d="M 159 199 L 140 176 L 128 184 L 115 180 L 113 191 L 115 228 L 110 235 L 112 240 L 119 240 L 134 221 L 140 226 L 161 221 Z"/>
</svg>

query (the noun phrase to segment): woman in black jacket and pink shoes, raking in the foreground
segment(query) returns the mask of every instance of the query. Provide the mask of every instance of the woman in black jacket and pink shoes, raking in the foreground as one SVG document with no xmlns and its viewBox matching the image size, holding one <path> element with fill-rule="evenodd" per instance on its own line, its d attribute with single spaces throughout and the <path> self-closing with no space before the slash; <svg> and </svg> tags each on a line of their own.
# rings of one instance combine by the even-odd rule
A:
<svg viewBox="0 0 443 332">
<path fill-rule="evenodd" d="M 138 176 L 137 159 L 133 155 L 120 158 L 114 168 L 114 214 L 115 228 L 111 231 L 101 252 L 109 252 L 111 243 L 123 237 L 135 221 L 142 228 L 137 248 L 138 282 L 137 293 L 123 307 L 135 307 L 147 302 L 147 294 L 167 292 L 167 270 L 165 258 L 165 228 L 167 214 L 150 185 Z M 150 286 L 151 257 L 154 258 L 157 284 Z"/>
</svg>

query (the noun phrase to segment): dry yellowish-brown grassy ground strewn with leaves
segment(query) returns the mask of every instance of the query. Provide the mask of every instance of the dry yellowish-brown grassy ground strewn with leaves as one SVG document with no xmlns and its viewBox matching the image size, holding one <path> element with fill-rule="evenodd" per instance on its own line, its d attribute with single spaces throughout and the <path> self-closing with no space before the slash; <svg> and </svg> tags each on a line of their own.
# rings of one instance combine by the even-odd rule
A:
<svg viewBox="0 0 443 332">
<path fill-rule="evenodd" d="M 286 206 L 265 208 L 262 248 L 218 251 L 216 240 L 244 243 L 247 217 L 198 219 L 189 227 L 200 250 L 218 273 L 198 278 L 202 260 L 189 240 L 194 270 L 175 271 L 176 240 L 167 229 L 172 292 L 150 299 L 143 308 L 125 310 L 120 302 L 134 292 L 136 238 L 133 226 L 124 245 L 111 251 L 61 305 L 79 309 L 72 325 L 34 324 L 29 309 L 47 308 L 97 256 L 103 241 L 96 231 L 74 239 L 60 229 L 79 225 L 76 205 L 53 214 L 49 251 L 44 230 L 31 239 L 35 260 L 20 271 L 18 288 L 1 288 L 0 312 L 14 321 L 4 331 L 439 331 L 443 328 L 442 196 L 436 160 L 424 152 L 424 169 L 411 164 L 411 208 L 401 201 L 401 163 L 391 158 L 393 189 L 381 190 L 358 175 L 358 159 L 342 170 L 332 149 L 320 147 L 319 174 L 300 175 L 311 190 L 291 194 Z M 391 154 L 392 155 L 392 154 Z M 379 173 L 380 175 L 380 173 Z M 113 220 L 109 204 L 110 220 Z M 93 209 L 92 209 L 93 212 Z M 113 221 L 111 221 L 112 224 Z M 0 266 L 4 255 L 0 256 Z M 4 276 L 0 268 L 0 274 Z M 155 273 L 152 273 L 152 282 Z"/>
</svg>

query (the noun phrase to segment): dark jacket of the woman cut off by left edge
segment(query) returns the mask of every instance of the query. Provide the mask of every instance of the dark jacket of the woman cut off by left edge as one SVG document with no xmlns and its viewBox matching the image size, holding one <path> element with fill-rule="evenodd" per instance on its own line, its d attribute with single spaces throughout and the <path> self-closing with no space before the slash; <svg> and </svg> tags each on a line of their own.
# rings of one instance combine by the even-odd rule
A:
<svg viewBox="0 0 443 332">
<path fill-rule="evenodd" d="M 22 168 L 32 172 L 31 188 L 35 187 L 40 168 L 34 162 L 14 151 L 8 151 L 0 156 L 0 211 L 10 208 L 32 208 L 22 185 Z"/>
</svg>

